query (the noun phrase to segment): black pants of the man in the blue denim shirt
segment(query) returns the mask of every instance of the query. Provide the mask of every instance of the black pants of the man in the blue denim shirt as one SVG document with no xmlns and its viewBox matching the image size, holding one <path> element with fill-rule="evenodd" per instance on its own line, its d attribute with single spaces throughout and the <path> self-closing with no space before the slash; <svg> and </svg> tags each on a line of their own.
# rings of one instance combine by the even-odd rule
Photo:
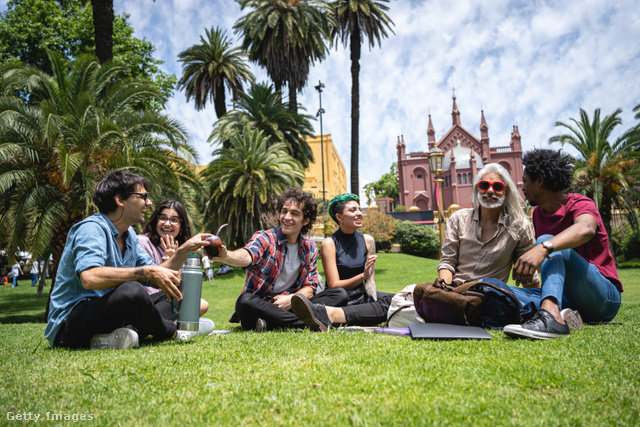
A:
<svg viewBox="0 0 640 427">
<path fill-rule="evenodd" d="M 125 282 L 106 295 L 76 305 L 62 324 L 55 347 L 87 348 L 95 334 L 130 327 L 140 338 L 153 335 L 155 340 L 171 338 L 176 325 L 162 317 L 144 286 Z"/>
</svg>

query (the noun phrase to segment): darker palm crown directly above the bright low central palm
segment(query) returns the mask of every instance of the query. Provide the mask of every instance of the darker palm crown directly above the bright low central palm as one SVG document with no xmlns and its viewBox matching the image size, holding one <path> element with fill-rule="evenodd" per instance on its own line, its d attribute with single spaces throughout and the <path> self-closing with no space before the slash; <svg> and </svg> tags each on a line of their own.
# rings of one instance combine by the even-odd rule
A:
<svg viewBox="0 0 640 427">
<path fill-rule="evenodd" d="M 224 141 L 242 134 L 247 127 L 258 129 L 270 137 L 272 143 L 284 143 L 289 154 L 306 169 L 313 162 L 313 151 L 302 136 L 313 135 L 311 119 L 291 111 L 287 103 L 281 103 L 273 86 L 254 84 L 240 95 L 236 109 L 216 122 L 209 142 L 218 141 L 228 146 Z"/>
</svg>

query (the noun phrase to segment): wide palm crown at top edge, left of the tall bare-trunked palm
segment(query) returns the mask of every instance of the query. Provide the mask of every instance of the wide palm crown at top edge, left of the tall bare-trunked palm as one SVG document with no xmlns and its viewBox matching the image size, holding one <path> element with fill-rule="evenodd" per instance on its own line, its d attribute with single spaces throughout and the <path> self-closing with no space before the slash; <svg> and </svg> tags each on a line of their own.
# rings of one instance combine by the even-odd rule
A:
<svg viewBox="0 0 640 427">
<path fill-rule="evenodd" d="M 238 0 L 252 8 L 233 26 L 244 36 L 249 58 L 267 70 L 277 92 L 289 85 L 289 108 L 297 111 L 297 92 L 307 84 L 309 67 L 322 61 L 335 18 L 324 0 Z"/>
</svg>

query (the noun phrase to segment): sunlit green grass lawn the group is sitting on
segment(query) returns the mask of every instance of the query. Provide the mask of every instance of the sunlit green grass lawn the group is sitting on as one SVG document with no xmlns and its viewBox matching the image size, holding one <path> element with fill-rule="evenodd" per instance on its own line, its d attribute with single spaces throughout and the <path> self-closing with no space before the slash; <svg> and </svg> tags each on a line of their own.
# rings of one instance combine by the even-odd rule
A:
<svg viewBox="0 0 640 427">
<path fill-rule="evenodd" d="M 380 254 L 376 283 L 432 281 L 436 265 Z M 46 296 L 25 280 L 0 288 L 0 425 L 18 413 L 98 425 L 640 425 L 640 269 L 619 274 L 621 325 L 554 341 L 413 341 L 242 332 L 227 323 L 244 281 L 234 269 L 203 286 L 207 317 L 234 333 L 131 351 L 50 349 L 34 323 Z"/>
</svg>

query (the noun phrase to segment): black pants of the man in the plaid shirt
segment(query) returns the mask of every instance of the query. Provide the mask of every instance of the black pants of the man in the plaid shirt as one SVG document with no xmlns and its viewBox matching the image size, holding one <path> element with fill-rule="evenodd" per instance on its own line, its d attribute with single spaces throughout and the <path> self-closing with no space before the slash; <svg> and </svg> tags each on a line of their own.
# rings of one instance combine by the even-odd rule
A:
<svg viewBox="0 0 640 427">
<path fill-rule="evenodd" d="M 315 304 L 341 307 L 347 304 L 349 297 L 343 288 L 332 288 L 320 292 L 310 299 Z M 236 301 L 236 315 L 244 329 L 254 329 L 260 318 L 267 322 L 267 329 L 305 328 L 291 311 L 285 311 L 277 305 L 250 293 L 240 295 Z"/>
</svg>

